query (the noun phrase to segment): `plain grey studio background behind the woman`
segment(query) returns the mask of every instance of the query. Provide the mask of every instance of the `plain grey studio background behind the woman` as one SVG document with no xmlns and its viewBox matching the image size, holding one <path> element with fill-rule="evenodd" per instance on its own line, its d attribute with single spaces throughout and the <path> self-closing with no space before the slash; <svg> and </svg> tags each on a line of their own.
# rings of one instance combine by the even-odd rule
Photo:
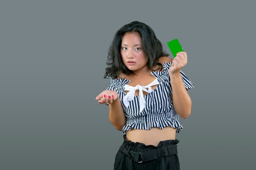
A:
<svg viewBox="0 0 256 170">
<path fill-rule="evenodd" d="M 191 116 L 181 170 L 254 170 L 255 3 L 0 1 L 0 169 L 112 170 L 123 142 L 95 97 L 115 32 L 138 20 L 178 38 Z M 171 54 L 171 53 L 170 53 Z M 172 55 L 170 55 L 173 58 Z"/>
</svg>

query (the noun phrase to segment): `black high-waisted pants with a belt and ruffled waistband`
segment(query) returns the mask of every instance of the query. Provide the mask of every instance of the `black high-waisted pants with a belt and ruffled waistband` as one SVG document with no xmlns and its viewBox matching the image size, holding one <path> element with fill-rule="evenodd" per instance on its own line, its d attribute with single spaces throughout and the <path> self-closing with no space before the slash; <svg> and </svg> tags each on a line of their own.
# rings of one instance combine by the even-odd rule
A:
<svg viewBox="0 0 256 170">
<path fill-rule="evenodd" d="M 117 152 L 114 170 L 180 170 L 180 162 L 177 155 L 177 144 L 180 142 L 179 140 L 160 141 L 157 146 L 153 146 L 128 141 L 126 135 L 123 137 L 124 142 L 120 147 L 121 149 L 123 148 L 123 151 L 119 149 Z M 166 152 L 166 148 L 168 148 L 168 152 Z M 145 152 L 149 150 L 150 156 L 156 157 L 156 159 L 143 161 L 142 155 L 140 155 L 139 152 L 146 153 L 143 157 L 149 157 L 146 156 L 148 152 Z M 163 156 L 163 153 L 165 153 L 165 155 L 169 153 L 169 155 Z M 137 155 L 142 158 L 140 158 L 139 162 L 141 162 L 141 160 L 143 162 L 139 163 L 137 161 L 139 160 Z M 137 158 L 136 161 L 135 158 Z"/>
</svg>

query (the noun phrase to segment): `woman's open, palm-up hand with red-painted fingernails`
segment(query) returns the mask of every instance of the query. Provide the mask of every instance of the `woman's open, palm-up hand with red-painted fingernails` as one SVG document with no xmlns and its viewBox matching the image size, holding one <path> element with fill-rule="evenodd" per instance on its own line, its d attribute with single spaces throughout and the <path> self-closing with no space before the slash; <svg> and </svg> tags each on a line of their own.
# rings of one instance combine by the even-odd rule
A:
<svg viewBox="0 0 256 170">
<path fill-rule="evenodd" d="M 112 104 L 118 97 L 116 91 L 105 90 L 96 97 L 96 100 L 99 100 L 99 104 Z"/>
</svg>

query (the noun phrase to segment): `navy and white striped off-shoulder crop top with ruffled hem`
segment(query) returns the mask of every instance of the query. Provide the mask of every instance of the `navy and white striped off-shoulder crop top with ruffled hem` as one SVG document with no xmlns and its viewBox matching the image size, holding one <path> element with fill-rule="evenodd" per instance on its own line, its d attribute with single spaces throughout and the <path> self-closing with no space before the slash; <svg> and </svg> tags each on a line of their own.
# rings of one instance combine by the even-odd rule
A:
<svg viewBox="0 0 256 170">
<path fill-rule="evenodd" d="M 124 78 L 111 79 L 107 90 L 117 91 L 126 115 L 126 125 L 122 129 L 124 135 L 131 128 L 149 130 L 152 127 L 163 129 L 166 126 L 171 126 L 176 128 L 176 133 L 179 133 L 183 128 L 179 123 L 179 115 L 175 112 L 171 99 L 173 93 L 168 71 L 171 64 L 172 62 L 164 62 L 163 71 L 152 71 L 151 74 L 156 79 L 148 86 L 137 85 L 132 87 L 127 85 L 130 80 Z M 186 90 L 193 88 L 194 85 L 186 75 L 182 71 L 180 71 L 180 74 Z M 158 86 L 155 90 L 152 90 L 150 86 L 155 84 L 158 84 Z M 135 95 L 136 90 L 139 90 L 139 96 Z M 124 91 L 129 92 L 125 93 Z M 148 94 L 143 95 L 142 91 L 146 91 Z"/>
</svg>

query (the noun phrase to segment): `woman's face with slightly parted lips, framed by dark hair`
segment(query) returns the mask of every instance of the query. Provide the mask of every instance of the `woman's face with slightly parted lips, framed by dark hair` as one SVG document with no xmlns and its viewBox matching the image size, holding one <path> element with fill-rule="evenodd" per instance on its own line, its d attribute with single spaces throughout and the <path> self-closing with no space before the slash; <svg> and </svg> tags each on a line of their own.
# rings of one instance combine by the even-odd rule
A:
<svg viewBox="0 0 256 170">
<path fill-rule="evenodd" d="M 148 59 L 141 46 L 138 33 L 125 33 L 121 43 L 121 56 L 124 64 L 132 71 L 147 68 Z"/>
</svg>

